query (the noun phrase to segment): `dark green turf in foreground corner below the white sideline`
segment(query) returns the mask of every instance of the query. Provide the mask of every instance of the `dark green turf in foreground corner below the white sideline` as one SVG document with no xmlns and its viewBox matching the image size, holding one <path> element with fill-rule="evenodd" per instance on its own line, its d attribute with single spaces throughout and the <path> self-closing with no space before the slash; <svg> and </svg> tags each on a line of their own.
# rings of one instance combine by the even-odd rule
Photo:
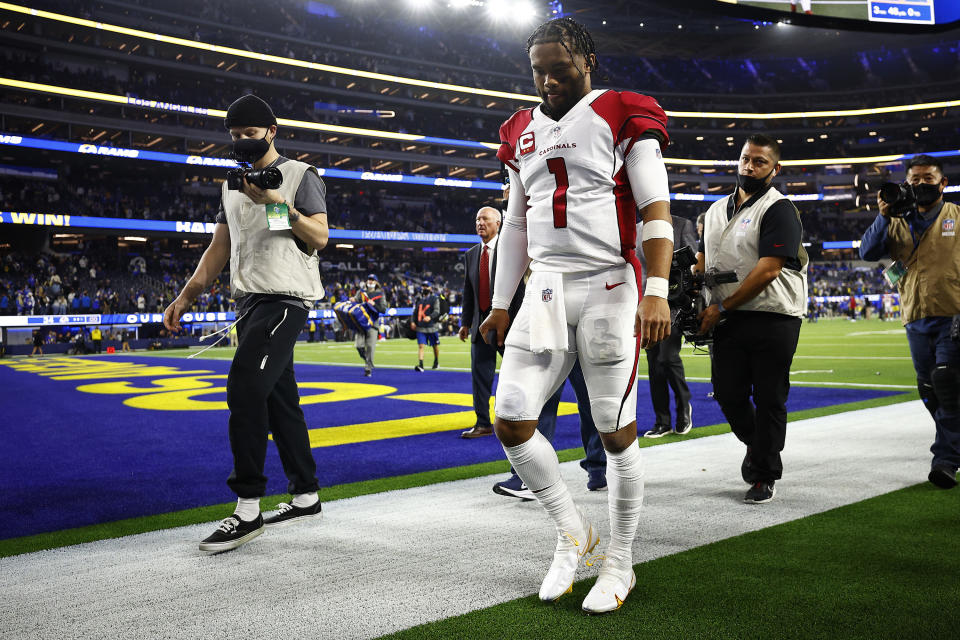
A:
<svg viewBox="0 0 960 640">
<path fill-rule="evenodd" d="M 414 627 L 430 638 L 946 638 L 960 622 L 960 496 L 925 484 L 637 565 L 626 604 L 592 580 Z"/>
</svg>

